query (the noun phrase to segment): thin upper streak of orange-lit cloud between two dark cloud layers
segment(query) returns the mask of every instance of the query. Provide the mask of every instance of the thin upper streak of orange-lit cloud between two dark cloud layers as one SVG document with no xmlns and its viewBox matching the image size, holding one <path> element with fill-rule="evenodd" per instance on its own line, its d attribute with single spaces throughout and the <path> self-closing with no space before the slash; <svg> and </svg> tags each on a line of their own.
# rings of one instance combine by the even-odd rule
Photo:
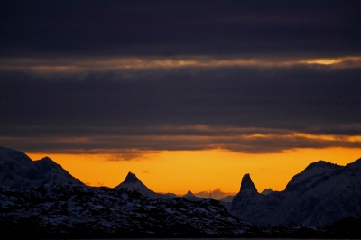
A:
<svg viewBox="0 0 361 240">
<path fill-rule="evenodd" d="M 63 58 L 63 59 L 1 59 L 0 69 L 32 70 L 34 72 L 75 72 L 93 70 L 122 70 L 122 69 L 173 69 L 184 67 L 221 68 L 259 66 L 265 68 L 291 67 L 294 65 L 329 65 L 333 68 L 361 67 L 361 57 L 350 56 L 329 59 L 297 59 L 297 58 L 224 58 L 212 56 L 183 56 L 175 58 L 155 57 L 127 57 L 127 58 Z"/>
</svg>

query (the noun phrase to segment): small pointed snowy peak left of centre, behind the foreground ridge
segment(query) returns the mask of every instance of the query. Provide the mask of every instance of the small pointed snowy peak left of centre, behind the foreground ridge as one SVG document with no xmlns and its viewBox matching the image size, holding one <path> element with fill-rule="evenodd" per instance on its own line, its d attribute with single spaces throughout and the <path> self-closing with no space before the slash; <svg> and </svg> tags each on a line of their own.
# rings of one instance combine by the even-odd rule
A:
<svg viewBox="0 0 361 240">
<path fill-rule="evenodd" d="M 132 191 L 137 191 L 139 193 L 142 193 L 144 196 L 147 196 L 149 198 L 172 198 L 172 195 L 170 194 L 160 194 L 153 192 L 153 190 L 148 189 L 141 180 L 139 180 L 134 173 L 128 172 L 128 175 L 126 175 L 125 180 L 120 183 L 118 186 L 116 186 L 115 189 L 129 189 Z"/>
</svg>

